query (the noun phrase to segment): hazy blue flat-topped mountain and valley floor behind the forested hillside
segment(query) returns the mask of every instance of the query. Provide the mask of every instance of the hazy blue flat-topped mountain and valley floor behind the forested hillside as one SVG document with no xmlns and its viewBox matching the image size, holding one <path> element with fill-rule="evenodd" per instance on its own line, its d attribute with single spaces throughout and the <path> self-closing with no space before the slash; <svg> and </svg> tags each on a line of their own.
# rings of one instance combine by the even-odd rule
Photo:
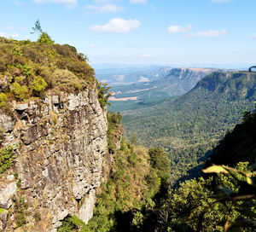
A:
<svg viewBox="0 0 256 232">
<path fill-rule="evenodd" d="M 148 104 L 152 105 L 163 101 L 170 96 L 181 96 L 184 93 L 195 87 L 195 84 L 207 76 L 207 74 L 220 71 L 214 68 L 160 68 L 156 74 L 151 72 L 151 75 L 160 75 L 162 77 L 152 80 L 150 82 L 143 82 L 140 84 L 125 84 L 112 86 L 113 96 L 109 99 L 113 102 L 109 110 L 127 110 L 139 107 L 145 107 Z M 221 70 L 224 71 L 224 70 Z M 229 70 L 225 70 L 230 72 Z M 132 73 L 134 74 L 134 73 Z M 166 74 L 166 75 L 165 75 Z M 136 77 L 134 75 L 134 77 Z M 123 102 L 123 101 L 128 102 Z M 122 101 L 122 102 L 119 102 Z"/>
</svg>

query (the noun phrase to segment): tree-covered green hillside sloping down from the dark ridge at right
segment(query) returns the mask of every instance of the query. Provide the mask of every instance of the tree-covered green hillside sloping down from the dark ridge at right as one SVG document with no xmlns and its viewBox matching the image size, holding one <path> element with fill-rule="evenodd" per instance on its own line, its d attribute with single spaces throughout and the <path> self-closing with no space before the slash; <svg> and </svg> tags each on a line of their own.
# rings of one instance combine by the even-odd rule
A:
<svg viewBox="0 0 256 232">
<path fill-rule="evenodd" d="M 253 108 L 256 74 L 211 73 L 193 90 L 153 107 L 123 112 L 127 136 L 137 134 L 145 146 L 165 148 L 172 157 L 172 174 L 197 173 L 219 138 Z M 209 151 L 207 153 L 207 151 Z"/>
</svg>

